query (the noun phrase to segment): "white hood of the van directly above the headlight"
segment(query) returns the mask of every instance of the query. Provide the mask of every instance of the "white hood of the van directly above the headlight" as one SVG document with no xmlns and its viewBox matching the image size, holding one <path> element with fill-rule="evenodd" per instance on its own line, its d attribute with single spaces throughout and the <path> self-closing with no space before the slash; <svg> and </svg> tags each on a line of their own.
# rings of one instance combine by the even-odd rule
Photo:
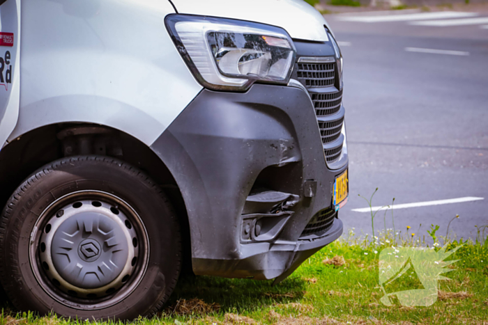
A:
<svg viewBox="0 0 488 325">
<path fill-rule="evenodd" d="M 302 40 L 326 42 L 326 19 L 303 0 L 173 0 L 178 13 L 261 22 L 282 27 Z"/>
</svg>

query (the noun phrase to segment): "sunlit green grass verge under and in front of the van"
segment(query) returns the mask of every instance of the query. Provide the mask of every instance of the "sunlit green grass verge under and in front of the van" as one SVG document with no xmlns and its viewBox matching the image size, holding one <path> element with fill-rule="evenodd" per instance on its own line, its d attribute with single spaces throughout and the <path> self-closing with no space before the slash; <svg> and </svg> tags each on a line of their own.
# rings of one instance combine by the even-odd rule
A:
<svg viewBox="0 0 488 325">
<path fill-rule="evenodd" d="M 488 241 L 452 241 L 450 248 L 464 244 L 449 257 L 459 260 L 440 281 L 443 292 L 466 292 L 464 298 L 437 301 L 429 307 L 383 306 L 378 285 L 378 256 L 395 239 L 383 236 L 373 244 L 367 239 L 344 236 L 323 248 L 279 285 L 270 281 L 213 278 L 181 279 L 158 317 L 138 319 L 133 324 L 487 324 L 488 322 Z M 404 239 L 402 246 L 422 244 L 417 237 Z M 390 241 L 388 244 L 386 240 Z M 398 239 L 397 239 L 398 240 Z M 398 245 L 398 244 L 397 244 Z M 439 249 L 439 248 L 437 248 Z M 367 255 L 366 255 L 367 254 Z M 323 260 L 344 257 L 345 264 L 324 264 Z M 410 281 L 407 278 L 407 284 Z M 411 280 L 413 284 L 415 280 Z M 405 283 L 404 283 L 405 284 Z M 178 306 L 201 299 L 214 311 L 181 315 Z M 215 308 L 220 309 L 215 310 Z M 4 307 L 0 324 L 74 325 L 59 317 L 15 314 Z M 248 317 L 248 318 L 246 318 Z M 349 323 L 348 323 L 349 322 Z M 409 323 L 410 322 L 410 323 Z M 97 324 L 109 324 L 98 322 Z M 335 323 L 334 323 L 335 324 Z"/>
</svg>

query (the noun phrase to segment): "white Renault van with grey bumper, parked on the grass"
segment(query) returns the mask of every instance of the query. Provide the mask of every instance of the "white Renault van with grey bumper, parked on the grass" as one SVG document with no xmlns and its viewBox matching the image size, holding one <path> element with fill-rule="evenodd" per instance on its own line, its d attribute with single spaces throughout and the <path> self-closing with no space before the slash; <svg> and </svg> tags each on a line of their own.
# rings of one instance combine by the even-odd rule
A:
<svg viewBox="0 0 488 325">
<path fill-rule="evenodd" d="M 157 312 L 182 265 L 289 276 L 342 234 L 342 55 L 300 0 L 0 0 L 0 281 Z"/>
</svg>

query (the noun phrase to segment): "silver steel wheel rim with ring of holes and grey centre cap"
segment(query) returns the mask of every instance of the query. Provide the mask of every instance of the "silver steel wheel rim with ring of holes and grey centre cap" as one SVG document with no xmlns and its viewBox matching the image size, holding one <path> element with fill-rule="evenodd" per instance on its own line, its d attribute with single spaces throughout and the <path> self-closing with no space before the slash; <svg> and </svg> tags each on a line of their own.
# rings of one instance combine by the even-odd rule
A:
<svg viewBox="0 0 488 325">
<path fill-rule="evenodd" d="M 40 217 L 42 233 L 36 236 L 39 269 L 56 290 L 81 299 L 100 299 L 130 283 L 138 273 L 140 278 L 144 270 L 138 260 L 147 260 L 148 240 L 145 230 L 140 231 L 142 223 L 133 223 L 137 214 L 129 218 L 125 211 L 131 209 L 104 202 L 102 196 L 67 201 Z M 145 236 L 139 238 L 136 228 Z"/>
</svg>

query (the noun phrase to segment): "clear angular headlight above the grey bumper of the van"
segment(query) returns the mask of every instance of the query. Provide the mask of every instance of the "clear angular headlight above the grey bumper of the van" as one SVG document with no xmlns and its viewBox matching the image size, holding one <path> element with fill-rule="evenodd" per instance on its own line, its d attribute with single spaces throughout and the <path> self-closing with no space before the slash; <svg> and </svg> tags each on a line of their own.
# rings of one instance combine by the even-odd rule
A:
<svg viewBox="0 0 488 325">
<path fill-rule="evenodd" d="M 287 84 L 295 48 L 283 29 L 233 19 L 169 15 L 166 25 L 197 80 L 213 90 Z"/>
</svg>

